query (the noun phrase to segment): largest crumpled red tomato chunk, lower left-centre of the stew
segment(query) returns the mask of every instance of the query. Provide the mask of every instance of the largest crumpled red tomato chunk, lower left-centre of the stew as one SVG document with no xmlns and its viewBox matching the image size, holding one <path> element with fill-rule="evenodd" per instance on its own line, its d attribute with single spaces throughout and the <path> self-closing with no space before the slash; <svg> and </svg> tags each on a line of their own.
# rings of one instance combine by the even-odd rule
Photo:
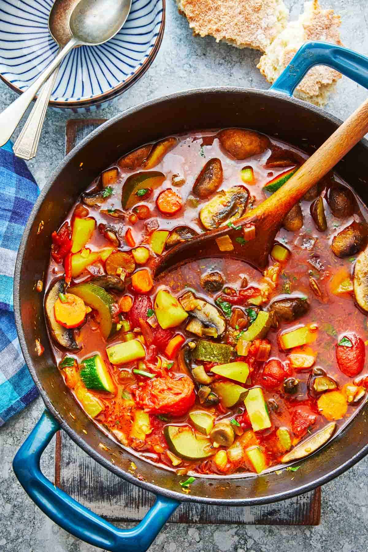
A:
<svg viewBox="0 0 368 552">
<path fill-rule="evenodd" d="M 195 401 L 194 384 L 188 376 L 154 378 L 134 393 L 137 405 L 154 414 L 183 416 Z"/>
</svg>

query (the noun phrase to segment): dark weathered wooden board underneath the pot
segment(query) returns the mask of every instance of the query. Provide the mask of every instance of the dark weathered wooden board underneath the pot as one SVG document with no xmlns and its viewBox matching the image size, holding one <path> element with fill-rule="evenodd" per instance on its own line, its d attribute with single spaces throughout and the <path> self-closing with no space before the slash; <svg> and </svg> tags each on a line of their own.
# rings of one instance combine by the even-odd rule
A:
<svg viewBox="0 0 368 552">
<path fill-rule="evenodd" d="M 103 119 L 70 120 L 66 127 L 69 153 Z M 83 506 L 110 521 L 140 521 L 153 505 L 152 493 L 106 470 L 84 453 L 65 432 L 56 435 L 55 485 Z M 236 523 L 257 525 L 318 525 L 321 487 L 264 506 L 209 506 L 183 503 L 169 523 Z"/>
</svg>

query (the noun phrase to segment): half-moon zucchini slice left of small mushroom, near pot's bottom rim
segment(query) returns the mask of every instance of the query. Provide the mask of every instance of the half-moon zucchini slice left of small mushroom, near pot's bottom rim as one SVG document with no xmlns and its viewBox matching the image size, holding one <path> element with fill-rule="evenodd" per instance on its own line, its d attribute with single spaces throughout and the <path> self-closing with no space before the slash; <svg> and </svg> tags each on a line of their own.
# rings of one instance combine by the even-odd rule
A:
<svg viewBox="0 0 368 552">
<path fill-rule="evenodd" d="M 171 452 L 183 460 L 201 460 L 215 452 L 209 439 L 196 437 L 188 427 L 165 426 L 164 436 Z"/>
</svg>

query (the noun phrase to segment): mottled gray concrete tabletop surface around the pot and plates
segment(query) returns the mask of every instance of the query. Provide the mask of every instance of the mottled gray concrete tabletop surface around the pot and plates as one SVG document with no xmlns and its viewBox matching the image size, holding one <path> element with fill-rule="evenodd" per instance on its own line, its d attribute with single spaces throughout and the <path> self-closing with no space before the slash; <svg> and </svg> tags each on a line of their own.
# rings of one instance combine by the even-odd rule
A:
<svg viewBox="0 0 368 552">
<path fill-rule="evenodd" d="M 365 0 L 321 0 L 342 15 L 342 38 L 346 46 L 368 55 L 368 4 Z M 302 10 L 301 0 L 285 0 L 292 17 Z M 201 86 L 245 86 L 267 88 L 256 63 L 259 52 L 237 50 L 216 44 L 211 38 L 194 38 L 167 0 L 167 23 L 156 60 L 146 75 L 119 100 L 97 116 L 109 118 L 148 98 Z M 327 110 L 346 118 L 367 97 L 365 89 L 343 78 Z M 0 109 L 15 94 L 0 83 Z M 83 116 L 83 115 L 81 115 Z M 29 163 L 40 187 L 62 160 L 65 123 L 70 115 L 47 113 L 38 156 Z M 20 127 L 19 127 L 20 128 Z M 19 129 L 14 137 L 18 136 Z M 272 129 L 270 129 L 272 132 Z M 15 480 L 11 463 L 42 412 L 37 399 L 0 429 L 0 550 L 4 552 L 92 552 L 58 528 L 30 501 Z M 52 445 L 42 458 L 46 476 L 52 478 Z M 368 549 L 368 459 L 330 482 L 322 490 L 322 523 L 319 527 L 260 526 L 167 526 L 151 546 L 151 552 L 364 552 Z"/>
</svg>

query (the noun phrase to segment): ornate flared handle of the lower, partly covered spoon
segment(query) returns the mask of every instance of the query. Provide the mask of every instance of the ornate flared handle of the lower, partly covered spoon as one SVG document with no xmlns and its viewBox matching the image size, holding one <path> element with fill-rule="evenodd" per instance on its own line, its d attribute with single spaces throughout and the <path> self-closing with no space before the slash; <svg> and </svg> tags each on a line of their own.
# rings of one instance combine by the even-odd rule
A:
<svg viewBox="0 0 368 552">
<path fill-rule="evenodd" d="M 58 50 L 58 52 L 60 52 L 60 50 Z M 17 157 L 22 157 L 29 161 L 36 155 L 42 126 L 46 116 L 47 105 L 49 105 L 50 95 L 55 85 L 57 73 L 58 67 L 55 69 L 54 73 L 51 73 L 50 77 L 45 82 L 18 139 L 14 143 L 13 151 Z"/>
</svg>

